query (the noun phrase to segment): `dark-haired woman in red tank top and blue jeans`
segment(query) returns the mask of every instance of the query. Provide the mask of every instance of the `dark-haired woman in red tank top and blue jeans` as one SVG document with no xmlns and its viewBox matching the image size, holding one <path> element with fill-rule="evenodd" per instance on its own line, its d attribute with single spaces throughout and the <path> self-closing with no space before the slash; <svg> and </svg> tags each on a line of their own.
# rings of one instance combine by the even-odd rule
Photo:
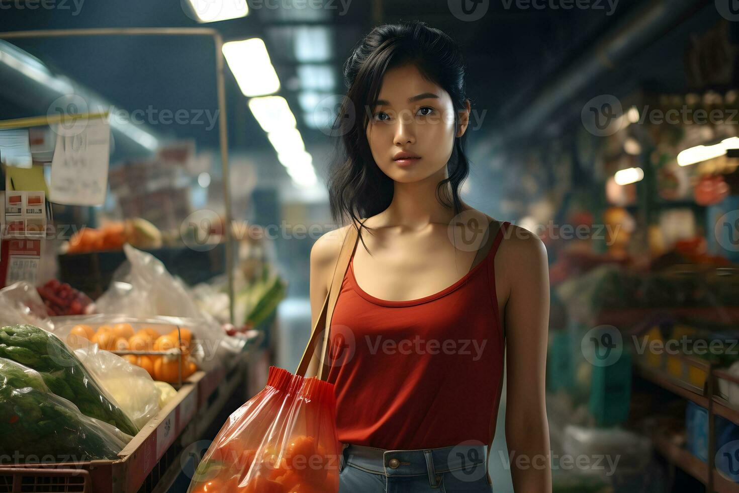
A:
<svg viewBox="0 0 739 493">
<path fill-rule="evenodd" d="M 454 41 L 418 21 L 375 28 L 344 66 L 330 204 L 351 220 L 310 254 L 315 324 L 341 239 L 359 228 L 331 318 L 341 493 L 493 491 L 506 345 L 514 489 L 551 491 L 546 251 L 460 200 L 464 72 Z"/>
</svg>

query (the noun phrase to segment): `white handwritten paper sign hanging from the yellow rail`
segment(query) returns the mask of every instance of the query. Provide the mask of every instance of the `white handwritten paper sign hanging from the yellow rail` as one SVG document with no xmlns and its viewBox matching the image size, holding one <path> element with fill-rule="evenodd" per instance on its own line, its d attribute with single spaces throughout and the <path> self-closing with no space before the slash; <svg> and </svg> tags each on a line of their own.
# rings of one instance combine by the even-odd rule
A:
<svg viewBox="0 0 739 493">
<path fill-rule="evenodd" d="M 103 205 L 108 188 L 110 125 L 89 120 L 84 129 L 58 129 L 51 164 L 50 202 Z M 70 135 L 73 134 L 73 135 Z"/>
</svg>

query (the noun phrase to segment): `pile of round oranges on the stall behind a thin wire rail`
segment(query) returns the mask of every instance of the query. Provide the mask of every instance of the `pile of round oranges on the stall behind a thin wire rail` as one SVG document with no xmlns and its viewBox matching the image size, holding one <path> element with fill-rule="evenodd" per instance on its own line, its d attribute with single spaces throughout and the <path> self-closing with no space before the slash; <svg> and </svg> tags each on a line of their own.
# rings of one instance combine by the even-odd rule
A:
<svg viewBox="0 0 739 493">
<path fill-rule="evenodd" d="M 84 338 L 98 344 L 101 350 L 106 351 L 166 351 L 180 347 L 183 356 L 179 355 L 126 355 L 123 358 L 131 364 L 142 367 L 149 372 L 151 378 L 159 381 L 176 383 L 180 377 L 180 361 L 182 362 L 182 378 L 188 378 L 197 370 L 197 364 L 190 357 L 192 347 L 192 333 L 188 329 L 172 330 L 160 336 L 157 330 L 145 327 L 134 333 L 131 324 L 101 325 L 93 330 L 89 325 L 75 325 L 69 332 L 69 338 Z M 72 344 L 78 346 L 78 344 Z"/>
</svg>

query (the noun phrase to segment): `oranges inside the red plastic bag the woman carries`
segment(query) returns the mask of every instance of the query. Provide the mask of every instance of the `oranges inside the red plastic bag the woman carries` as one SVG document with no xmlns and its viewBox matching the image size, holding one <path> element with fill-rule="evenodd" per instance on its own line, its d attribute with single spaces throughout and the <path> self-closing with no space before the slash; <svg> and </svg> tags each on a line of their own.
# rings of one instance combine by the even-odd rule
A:
<svg viewBox="0 0 739 493">
<path fill-rule="evenodd" d="M 293 436 L 282 458 L 278 452 L 272 446 L 264 447 L 259 453 L 259 465 L 248 482 L 239 486 L 256 460 L 257 451 L 245 448 L 238 438 L 221 443 L 208 463 L 199 468 L 204 476 L 212 475 L 208 474 L 209 469 L 217 471 L 217 477 L 196 483 L 191 493 L 321 493 L 338 488 L 338 458 L 330 460 L 315 438 Z"/>
</svg>

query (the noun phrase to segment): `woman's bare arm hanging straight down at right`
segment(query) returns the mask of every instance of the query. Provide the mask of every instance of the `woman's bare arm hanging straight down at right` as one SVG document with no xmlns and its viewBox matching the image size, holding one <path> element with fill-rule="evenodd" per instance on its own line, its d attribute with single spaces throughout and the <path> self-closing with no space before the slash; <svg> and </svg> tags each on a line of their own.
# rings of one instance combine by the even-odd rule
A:
<svg viewBox="0 0 739 493">
<path fill-rule="evenodd" d="M 511 226 L 503 242 L 507 338 L 505 441 L 516 493 L 552 491 L 545 370 L 549 324 L 549 270 L 542 241 Z"/>
</svg>

